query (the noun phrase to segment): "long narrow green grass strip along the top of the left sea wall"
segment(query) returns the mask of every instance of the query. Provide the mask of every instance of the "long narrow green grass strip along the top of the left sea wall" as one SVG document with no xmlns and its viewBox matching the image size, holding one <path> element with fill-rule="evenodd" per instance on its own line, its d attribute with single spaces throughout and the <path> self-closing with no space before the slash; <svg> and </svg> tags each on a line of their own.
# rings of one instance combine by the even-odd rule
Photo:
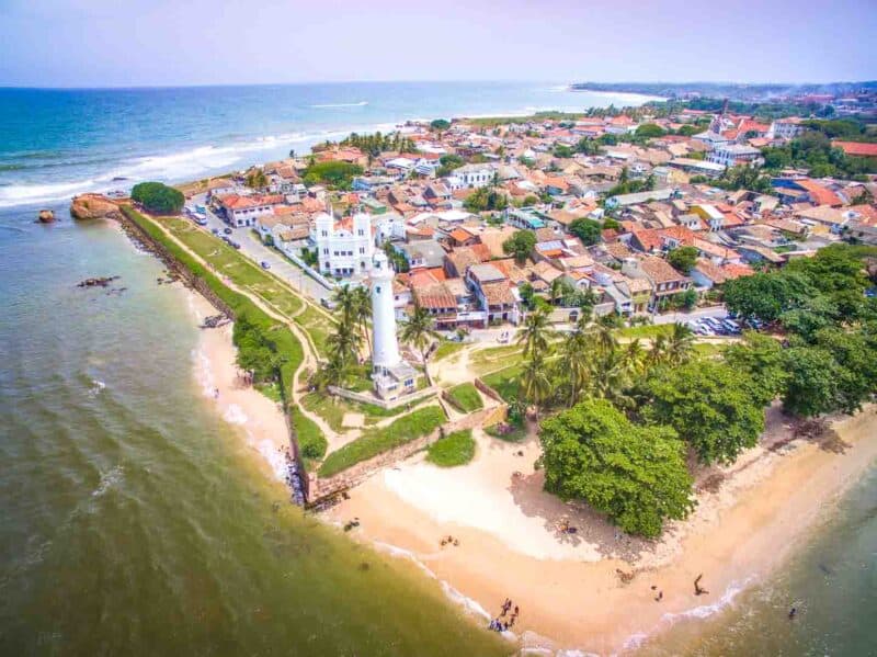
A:
<svg viewBox="0 0 877 657">
<path fill-rule="evenodd" d="M 178 245 L 172 239 L 169 239 L 168 236 L 161 230 L 161 228 L 156 225 L 153 219 L 150 219 L 139 212 L 129 206 L 122 206 L 122 212 L 125 213 L 125 216 L 130 219 L 134 224 L 140 227 L 147 235 L 149 235 L 152 239 L 162 245 L 168 252 L 178 261 L 180 264 L 185 267 L 189 271 L 192 272 L 198 279 L 202 279 L 206 285 L 218 296 L 229 308 L 235 313 L 237 317 L 246 315 L 247 318 L 258 327 L 258 329 L 263 332 L 276 347 L 278 353 L 284 355 L 284 360 L 280 365 L 280 377 L 281 377 L 281 386 L 283 398 L 287 401 L 293 398 L 293 377 L 295 375 L 296 370 L 301 364 L 301 361 L 305 359 L 305 352 L 301 347 L 301 343 L 298 339 L 293 335 L 293 331 L 289 330 L 289 327 L 286 326 L 284 322 L 278 321 L 267 315 L 262 308 L 257 306 L 250 298 L 246 295 L 240 294 L 230 287 L 228 287 L 223 281 L 220 281 L 213 272 L 207 270 L 201 262 L 195 260 L 187 251 L 182 249 L 180 245 Z M 184 219 L 178 218 L 170 218 L 167 219 L 167 223 L 174 222 L 179 224 Z M 200 231 L 204 237 L 209 238 L 203 231 Z M 175 233 L 174 233 L 175 235 Z M 201 238 L 198 238 L 201 240 Z M 183 241 L 183 240 L 181 240 Z M 225 247 L 231 253 L 220 253 L 216 257 L 228 259 L 230 256 L 235 258 L 242 259 L 243 257 L 240 256 L 235 249 L 227 247 L 225 243 L 219 242 L 218 240 L 212 240 L 214 242 L 218 242 L 218 246 Z M 189 242 L 185 242 L 189 246 Z M 198 241 L 198 243 L 202 243 Z M 195 249 L 190 246 L 193 251 L 201 254 L 198 249 Z M 202 243 L 201 248 L 205 248 Z M 205 258 L 205 260 L 207 260 Z M 231 262 L 231 260 L 226 260 L 226 262 Z M 241 285 L 241 287 L 247 287 L 247 285 L 242 285 L 236 279 L 236 275 L 244 275 L 250 276 L 252 275 L 250 270 L 246 268 L 232 268 L 232 271 L 237 272 L 237 269 L 240 269 L 240 272 L 246 273 L 236 273 L 236 274 L 227 274 L 228 277 L 235 281 L 236 284 Z M 264 272 L 255 269 L 255 272 L 262 275 L 265 275 Z M 299 302 L 300 303 L 300 302 Z M 281 392 L 281 390 L 278 390 Z M 326 454 L 327 442 L 326 437 L 322 435 L 322 432 L 319 428 L 308 420 L 305 416 L 300 412 L 293 412 L 293 409 L 287 407 L 287 412 L 289 412 L 291 420 L 293 426 L 295 427 L 296 434 L 298 437 L 298 446 L 304 456 L 308 458 L 320 458 L 323 454 Z"/>
</svg>

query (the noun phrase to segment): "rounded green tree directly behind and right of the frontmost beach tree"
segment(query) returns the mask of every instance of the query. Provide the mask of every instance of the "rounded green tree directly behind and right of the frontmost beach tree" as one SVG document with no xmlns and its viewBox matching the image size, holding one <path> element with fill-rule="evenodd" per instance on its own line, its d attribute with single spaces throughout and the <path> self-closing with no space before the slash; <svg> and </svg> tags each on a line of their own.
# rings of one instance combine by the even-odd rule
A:
<svg viewBox="0 0 877 657">
<path fill-rule="evenodd" d="M 701 360 L 659 369 L 646 389 L 643 415 L 673 427 L 704 463 L 732 463 L 764 430 L 752 380 L 725 363 Z"/>
</svg>

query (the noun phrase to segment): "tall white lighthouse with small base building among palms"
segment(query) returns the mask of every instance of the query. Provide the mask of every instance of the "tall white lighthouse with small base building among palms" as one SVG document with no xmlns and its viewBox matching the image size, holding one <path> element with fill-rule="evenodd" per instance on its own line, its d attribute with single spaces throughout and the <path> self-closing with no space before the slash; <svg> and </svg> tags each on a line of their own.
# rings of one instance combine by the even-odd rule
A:
<svg viewBox="0 0 877 657">
<path fill-rule="evenodd" d="M 372 258 L 372 381 L 375 393 L 392 400 L 417 389 L 418 371 L 402 359 L 396 337 L 392 280 L 395 272 L 383 251 Z"/>
</svg>

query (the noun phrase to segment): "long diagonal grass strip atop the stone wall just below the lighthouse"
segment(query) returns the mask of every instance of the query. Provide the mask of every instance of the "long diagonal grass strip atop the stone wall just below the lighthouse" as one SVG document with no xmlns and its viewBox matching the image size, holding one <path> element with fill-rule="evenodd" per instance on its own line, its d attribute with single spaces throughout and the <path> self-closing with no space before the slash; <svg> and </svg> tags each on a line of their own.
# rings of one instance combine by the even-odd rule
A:
<svg viewBox="0 0 877 657">
<path fill-rule="evenodd" d="M 418 409 L 388 427 L 366 430 L 362 437 L 329 454 L 317 472 L 321 477 L 331 477 L 387 450 L 429 435 L 444 421 L 445 414 L 438 406 Z"/>
</svg>

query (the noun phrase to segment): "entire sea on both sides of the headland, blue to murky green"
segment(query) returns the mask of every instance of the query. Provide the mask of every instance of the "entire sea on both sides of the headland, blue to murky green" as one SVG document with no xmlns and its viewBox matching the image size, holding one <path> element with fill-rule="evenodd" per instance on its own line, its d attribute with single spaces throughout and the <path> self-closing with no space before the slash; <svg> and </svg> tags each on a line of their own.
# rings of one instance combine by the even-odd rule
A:
<svg viewBox="0 0 877 657">
<path fill-rule="evenodd" d="M 68 201 L 409 118 L 641 100 L 553 83 L 0 90 L 0 655 L 506 653 L 413 565 L 288 505 L 204 398 L 198 329 L 160 263 L 73 224 Z M 60 220 L 35 224 L 41 207 Z M 126 290 L 76 286 L 95 275 Z M 640 652 L 874 655 L 876 550 L 872 471 L 770 581 Z"/>
</svg>

